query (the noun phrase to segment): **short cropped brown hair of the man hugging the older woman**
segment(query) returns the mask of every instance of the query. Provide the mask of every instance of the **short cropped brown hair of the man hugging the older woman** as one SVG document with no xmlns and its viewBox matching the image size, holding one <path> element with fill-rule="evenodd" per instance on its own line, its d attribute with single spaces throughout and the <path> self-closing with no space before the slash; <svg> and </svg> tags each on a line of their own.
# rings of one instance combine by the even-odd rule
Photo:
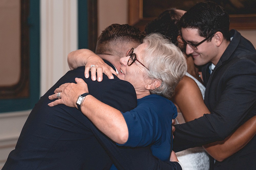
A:
<svg viewBox="0 0 256 170">
<path fill-rule="evenodd" d="M 113 52 L 116 50 L 113 47 L 115 43 L 136 42 L 141 44 L 144 37 L 145 33 L 134 26 L 128 24 L 112 24 L 103 30 L 98 37 L 95 53 L 105 54 L 105 51 Z"/>
</svg>

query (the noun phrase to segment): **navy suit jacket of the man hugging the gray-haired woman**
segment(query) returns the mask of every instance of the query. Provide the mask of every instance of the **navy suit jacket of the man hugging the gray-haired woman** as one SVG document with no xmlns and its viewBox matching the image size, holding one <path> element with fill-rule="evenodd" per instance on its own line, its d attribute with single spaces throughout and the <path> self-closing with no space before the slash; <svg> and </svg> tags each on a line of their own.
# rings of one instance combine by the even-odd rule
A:
<svg viewBox="0 0 256 170">
<path fill-rule="evenodd" d="M 118 147 L 103 135 L 76 108 L 63 104 L 49 107 L 49 95 L 63 83 L 83 78 L 89 93 L 122 111 L 136 107 L 133 86 L 126 81 L 108 79 L 92 81 L 84 78 L 84 67 L 69 71 L 40 98 L 31 111 L 3 169 L 109 169 L 114 162 L 119 169 L 178 169 L 177 162 L 162 162 L 150 147 Z"/>
</svg>

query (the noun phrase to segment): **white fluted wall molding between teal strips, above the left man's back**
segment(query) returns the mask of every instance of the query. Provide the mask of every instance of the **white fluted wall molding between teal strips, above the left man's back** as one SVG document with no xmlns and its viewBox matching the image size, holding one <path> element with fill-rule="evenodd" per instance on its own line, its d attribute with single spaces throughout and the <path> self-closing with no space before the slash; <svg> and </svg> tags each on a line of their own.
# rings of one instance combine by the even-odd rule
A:
<svg viewBox="0 0 256 170">
<path fill-rule="evenodd" d="M 77 0 L 40 1 L 40 96 L 68 70 L 67 56 L 78 48 Z"/>
</svg>

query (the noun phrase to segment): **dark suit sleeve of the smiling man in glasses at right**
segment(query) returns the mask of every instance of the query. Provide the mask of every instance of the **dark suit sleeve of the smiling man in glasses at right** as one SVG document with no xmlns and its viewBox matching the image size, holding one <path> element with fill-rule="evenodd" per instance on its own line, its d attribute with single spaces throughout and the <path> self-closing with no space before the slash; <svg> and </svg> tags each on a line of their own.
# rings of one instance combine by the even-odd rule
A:
<svg viewBox="0 0 256 170">
<path fill-rule="evenodd" d="M 249 119 L 256 114 L 255 62 L 242 59 L 227 69 L 219 82 L 216 78 L 211 84 L 215 87 L 211 87 L 209 98 L 214 99 L 208 100 L 209 104 L 206 103 L 210 106 L 211 114 L 175 125 L 175 152 L 223 140 L 245 121 L 243 119 Z"/>
</svg>

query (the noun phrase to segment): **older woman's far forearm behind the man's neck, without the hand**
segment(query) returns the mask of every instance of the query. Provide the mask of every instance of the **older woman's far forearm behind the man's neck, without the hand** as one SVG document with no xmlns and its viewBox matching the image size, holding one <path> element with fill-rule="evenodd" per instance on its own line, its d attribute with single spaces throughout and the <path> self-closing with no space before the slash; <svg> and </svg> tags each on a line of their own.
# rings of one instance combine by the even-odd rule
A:
<svg viewBox="0 0 256 170">
<path fill-rule="evenodd" d="M 68 66 L 70 70 L 76 69 L 80 66 L 85 66 L 91 56 L 101 59 L 98 55 L 89 49 L 79 49 L 72 51 L 68 54 Z"/>
</svg>

